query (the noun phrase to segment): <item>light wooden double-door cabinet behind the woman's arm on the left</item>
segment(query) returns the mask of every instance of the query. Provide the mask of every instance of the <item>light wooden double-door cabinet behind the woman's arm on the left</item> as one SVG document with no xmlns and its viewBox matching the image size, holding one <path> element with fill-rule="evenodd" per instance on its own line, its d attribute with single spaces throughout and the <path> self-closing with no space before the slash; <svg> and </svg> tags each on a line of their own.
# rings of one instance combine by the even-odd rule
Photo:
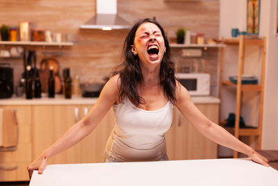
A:
<svg viewBox="0 0 278 186">
<path fill-rule="evenodd" d="M 59 139 L 92 106 L 33 106 L 33 159 Z M 113 110 L 108 111 L 95 130 L 78 144 L 49 159 L 49 164 L 103 162 L 104 148 L 113 129 Z"/>
</svg>

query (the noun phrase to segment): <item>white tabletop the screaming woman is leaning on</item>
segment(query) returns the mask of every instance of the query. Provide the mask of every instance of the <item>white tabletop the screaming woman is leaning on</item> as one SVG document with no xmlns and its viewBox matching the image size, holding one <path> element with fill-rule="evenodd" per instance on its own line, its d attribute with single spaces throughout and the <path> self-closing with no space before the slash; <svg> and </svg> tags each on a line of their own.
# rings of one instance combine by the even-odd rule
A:
<svg viewBox="0 0 278 186">
<path fill-rule="evenodd" d="M 278 171 L 249 159 L 182 160 L 99 164 L 52 164 L 33 172 L 44 185 L 278 185 Z"/>
</svg>

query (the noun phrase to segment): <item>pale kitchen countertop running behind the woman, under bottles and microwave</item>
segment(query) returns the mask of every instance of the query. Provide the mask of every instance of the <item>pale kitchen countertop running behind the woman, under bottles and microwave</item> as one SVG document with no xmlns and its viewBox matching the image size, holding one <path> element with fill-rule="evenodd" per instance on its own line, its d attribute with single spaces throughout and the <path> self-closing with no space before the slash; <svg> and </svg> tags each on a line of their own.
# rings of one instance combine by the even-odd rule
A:
<svg viewBox="0 0 278 186">
<path fill-rule="evenodd" d="M 219 104 L 220 99 L 213 96 L 192 96 L 195 104 Z M 25 98 L 0 99 L 0 105 L 70 105 L 70 104 L 95 104 L 97 98 L 82 98 L 72 96 L 72 99 L 65 99 L 63 95 L 55 95 L 55 98 L 34 98 L 26 100 Z"/>
</svg>

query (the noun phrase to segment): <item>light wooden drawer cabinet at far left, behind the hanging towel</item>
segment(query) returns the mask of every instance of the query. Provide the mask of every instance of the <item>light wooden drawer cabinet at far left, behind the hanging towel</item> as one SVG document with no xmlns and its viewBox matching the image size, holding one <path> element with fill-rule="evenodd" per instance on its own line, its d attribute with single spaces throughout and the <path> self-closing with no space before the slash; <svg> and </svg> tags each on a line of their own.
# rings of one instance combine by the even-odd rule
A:
<svg viewBox="0 0 278 186">
<path fill-rule="evenodd" d="M 28 180 L 26 167 L 32 160 L 31 106 L 1 106 L 16 110 L 19 139 L 17 150 L 0 152 L 0 181 Z"/>
</svg>

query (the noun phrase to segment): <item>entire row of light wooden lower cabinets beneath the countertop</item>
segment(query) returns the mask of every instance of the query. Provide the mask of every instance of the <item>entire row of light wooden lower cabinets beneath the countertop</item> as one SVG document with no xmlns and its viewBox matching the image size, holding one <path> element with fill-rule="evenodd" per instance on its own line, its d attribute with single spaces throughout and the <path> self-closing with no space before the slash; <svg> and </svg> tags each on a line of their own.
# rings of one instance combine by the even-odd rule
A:
<svg viewBox="0 0 278 186">
<path fill-rule="evenodd" d="M 209 119 L 218 123 L 218 104 L 196 104 Z M 0 182 L 29 180 L 26 167 L 43 150 L 54 144 L 74 123 L 83 118 L 89 105 L 4 106 L 16 109 L 19 143 L 13 152 L 0 152 Z M 104 162 L 106 141 L 113 130 L 115 115 L 110 109 L 95 130 L 79 144 L 49 159 L 49 164 Z M 202 136 L 174 107 L 173 122 L 166 133 L 170 160 L 217 158 L 217 145 Z"/>
</svg>

